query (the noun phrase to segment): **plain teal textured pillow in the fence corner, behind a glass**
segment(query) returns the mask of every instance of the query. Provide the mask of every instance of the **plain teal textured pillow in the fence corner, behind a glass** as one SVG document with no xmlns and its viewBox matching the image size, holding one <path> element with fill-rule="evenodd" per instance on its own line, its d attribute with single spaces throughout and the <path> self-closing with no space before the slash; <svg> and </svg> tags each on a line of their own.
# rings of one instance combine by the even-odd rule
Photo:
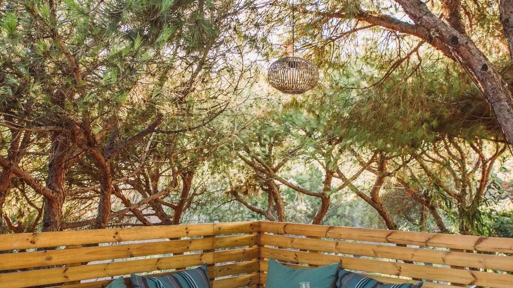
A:
<svg viewBox="0 0 513 288">
<path fill-rule="evenodd" d="M 299 282 L 310 282 L 310 288 L 335 288 L 339 263 L 312 269 L 293 269 L 269 259 L 265 288 L 298 288 Z"/>
</svg>

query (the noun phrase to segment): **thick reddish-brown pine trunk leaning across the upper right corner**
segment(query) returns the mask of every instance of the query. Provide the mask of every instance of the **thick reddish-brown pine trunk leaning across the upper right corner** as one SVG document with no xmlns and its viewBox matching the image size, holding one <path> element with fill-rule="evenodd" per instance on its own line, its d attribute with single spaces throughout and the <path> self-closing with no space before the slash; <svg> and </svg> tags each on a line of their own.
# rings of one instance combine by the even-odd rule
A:
<svg viewBox="0 0 513 288">
<path fill-rule="evenodd" d="M 461 24 L 460 3 L 458 0 L 445 0 L 445 23 L 433 14 L 420 0 L 396 0 L 415 24 L 403 22 L 392 16 L 369 11 L 359 11 L 358 20 L 381 26 L 386 29 L 417 36 L 432 47 L 442 51 L 447 57 L 457 61 L 468 72 L 470 78 L 483 92 L 495 113 L 506 141 L 513 143 L 513 95 L 498 70 L 484 53 L 465 35 Z M 508 44 L 513 47 L 513 29 L 510 18 L 513 14 L 511 0 L 502 0 L 500 6 L 504 33 Z M 346 18 L 345 13 L 325 13 L 324 16 Z"/>
</svg>

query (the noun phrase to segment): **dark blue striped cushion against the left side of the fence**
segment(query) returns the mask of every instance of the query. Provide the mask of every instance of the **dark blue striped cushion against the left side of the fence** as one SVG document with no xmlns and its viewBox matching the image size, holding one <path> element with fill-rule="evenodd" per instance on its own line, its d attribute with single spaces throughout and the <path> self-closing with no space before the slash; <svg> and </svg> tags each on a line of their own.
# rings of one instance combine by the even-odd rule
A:
<svg viewBox="0 0 513 288">
<path fill-rule="evenodd" d="M 130 280 L 133 288 L 210 288 L 207 264 L 160 277 L 132 274 Z"/>
</svg>

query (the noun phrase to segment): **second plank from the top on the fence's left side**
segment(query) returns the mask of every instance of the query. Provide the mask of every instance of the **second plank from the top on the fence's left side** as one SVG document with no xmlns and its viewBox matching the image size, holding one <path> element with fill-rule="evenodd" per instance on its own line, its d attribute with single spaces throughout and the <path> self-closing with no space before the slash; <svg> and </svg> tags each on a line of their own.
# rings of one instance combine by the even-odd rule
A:
<svg viewBox="0 0 513 288">
<path fill-rule="evenodd" d="M 221 249 L 254 245 L 256 242 L 257 235 L 238 235 L 0 254 L 0 270 L 191 252 L 212 247 Z"/>
</svg>

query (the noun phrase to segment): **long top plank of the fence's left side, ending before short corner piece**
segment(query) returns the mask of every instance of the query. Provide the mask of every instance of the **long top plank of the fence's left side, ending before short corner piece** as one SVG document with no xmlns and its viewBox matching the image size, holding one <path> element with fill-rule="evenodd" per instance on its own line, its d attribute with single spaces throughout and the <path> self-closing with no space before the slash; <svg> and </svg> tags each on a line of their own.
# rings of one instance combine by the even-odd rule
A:
<svg viewBox="0 0 513 288">
<path fill-rule="evenodd" d="M 0 235 L 0 250 L 166 239 L 212 234 L 213 224 L 4 234 Z"/>
</svg>

